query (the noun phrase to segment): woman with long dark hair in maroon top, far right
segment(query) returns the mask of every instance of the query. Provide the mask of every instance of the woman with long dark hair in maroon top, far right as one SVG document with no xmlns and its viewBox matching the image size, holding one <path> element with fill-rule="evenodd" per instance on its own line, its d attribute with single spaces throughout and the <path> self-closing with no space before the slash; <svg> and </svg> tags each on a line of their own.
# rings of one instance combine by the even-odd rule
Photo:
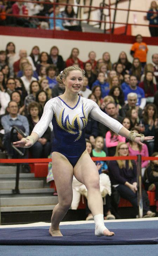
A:
<svg viewBox="0 0 158 256">
<path fill-rule="evenodd" d="M 153 84 L 153 73 L 151 71 L 146 72 L 144 80 L 139 84 L 139 87 L 144 90 L 146 101 L 153 102 L 157 88 L 156 84 Z"/>
</svg>

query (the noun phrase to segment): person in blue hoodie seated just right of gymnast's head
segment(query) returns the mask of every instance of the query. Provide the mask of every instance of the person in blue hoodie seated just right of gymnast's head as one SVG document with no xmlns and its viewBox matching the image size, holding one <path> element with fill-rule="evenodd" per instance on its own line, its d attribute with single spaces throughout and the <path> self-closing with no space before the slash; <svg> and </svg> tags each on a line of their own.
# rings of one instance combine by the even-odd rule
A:
<svg viewBox="0 0 158 256">
<path fill-rule="evenodd" d="M 98 73 L 97 80 L 92 84 L 92 88 L 96 85 L 101 87 L 101 97 L 104 98 L 107 95 L 109 84 L 105 82 L 105 75 L 103 72 Z"/>
</svg>

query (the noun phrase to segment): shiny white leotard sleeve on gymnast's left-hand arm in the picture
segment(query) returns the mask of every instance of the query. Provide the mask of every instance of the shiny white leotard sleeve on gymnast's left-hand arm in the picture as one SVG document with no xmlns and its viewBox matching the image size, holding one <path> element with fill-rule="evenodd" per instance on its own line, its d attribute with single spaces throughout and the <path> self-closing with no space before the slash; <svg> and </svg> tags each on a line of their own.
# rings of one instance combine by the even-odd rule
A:
<svg viewBox="0 0 158 256">
<path fill-rule="evenodd" d="M 53 105 L 55 104 L 54 99 L 50 99 L 47 101 L 47 103 L 44 106 L 44 111 L 42 114 L 41 119 L 39 122 L 34 126 L 34 129 L 32 132 L 35 132 L 38 134 L 39 138 L 44 134 L 44 132 L 47 130 L 48 125 L 51 123 L 53 118 Z"/>
</svg>

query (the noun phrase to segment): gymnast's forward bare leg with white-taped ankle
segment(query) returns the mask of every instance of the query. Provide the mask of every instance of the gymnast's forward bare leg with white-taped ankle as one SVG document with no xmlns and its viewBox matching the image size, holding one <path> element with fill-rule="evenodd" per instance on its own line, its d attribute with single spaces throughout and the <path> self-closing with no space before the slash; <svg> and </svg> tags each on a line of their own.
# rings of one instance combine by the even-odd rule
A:
<svg viewBox="0 0 158 256">
<path fill-rule="evenodd" d="M 99 173 L 87 151 L 82 154 L 77 164 L 74 166 L 74 176 L 79 180 L 79 182 L 86 186 L 88 207 L 92 212 L 94 221 L 96 219 L 97 223 L 101 223 L 97 224 L 97 227 L 101 225 L 101 231 L 97 231 L 98 236 L 113 236 L 113 232 L 110 232 L 106 227 L 103 227 L 103 200 L 100 193 Z M 97 232 L 95 233 L 97 234 Z"/>
</svg>

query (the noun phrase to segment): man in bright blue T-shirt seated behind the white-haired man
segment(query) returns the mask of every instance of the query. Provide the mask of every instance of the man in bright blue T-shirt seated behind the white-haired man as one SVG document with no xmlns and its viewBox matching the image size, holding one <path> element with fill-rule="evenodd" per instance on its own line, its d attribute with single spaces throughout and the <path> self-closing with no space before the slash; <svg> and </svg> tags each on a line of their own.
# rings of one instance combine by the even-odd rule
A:
<svg viewBox="0 0 158 256">
<path fill-rule="evenodd" d="M 142 88 L 137 86 L 137 77 L 136 76 L 130 76 L 130 84 L 129 88 L 126 88 L 124 91 L 124 100 L 127 101 L 127 94 L 130 92 L 137 93 L 137 106 L 141 107 L 141 109 L 144 109 L 146 105 L 146 99 L 145 99 L 145 93 Z"/>
</svg>

